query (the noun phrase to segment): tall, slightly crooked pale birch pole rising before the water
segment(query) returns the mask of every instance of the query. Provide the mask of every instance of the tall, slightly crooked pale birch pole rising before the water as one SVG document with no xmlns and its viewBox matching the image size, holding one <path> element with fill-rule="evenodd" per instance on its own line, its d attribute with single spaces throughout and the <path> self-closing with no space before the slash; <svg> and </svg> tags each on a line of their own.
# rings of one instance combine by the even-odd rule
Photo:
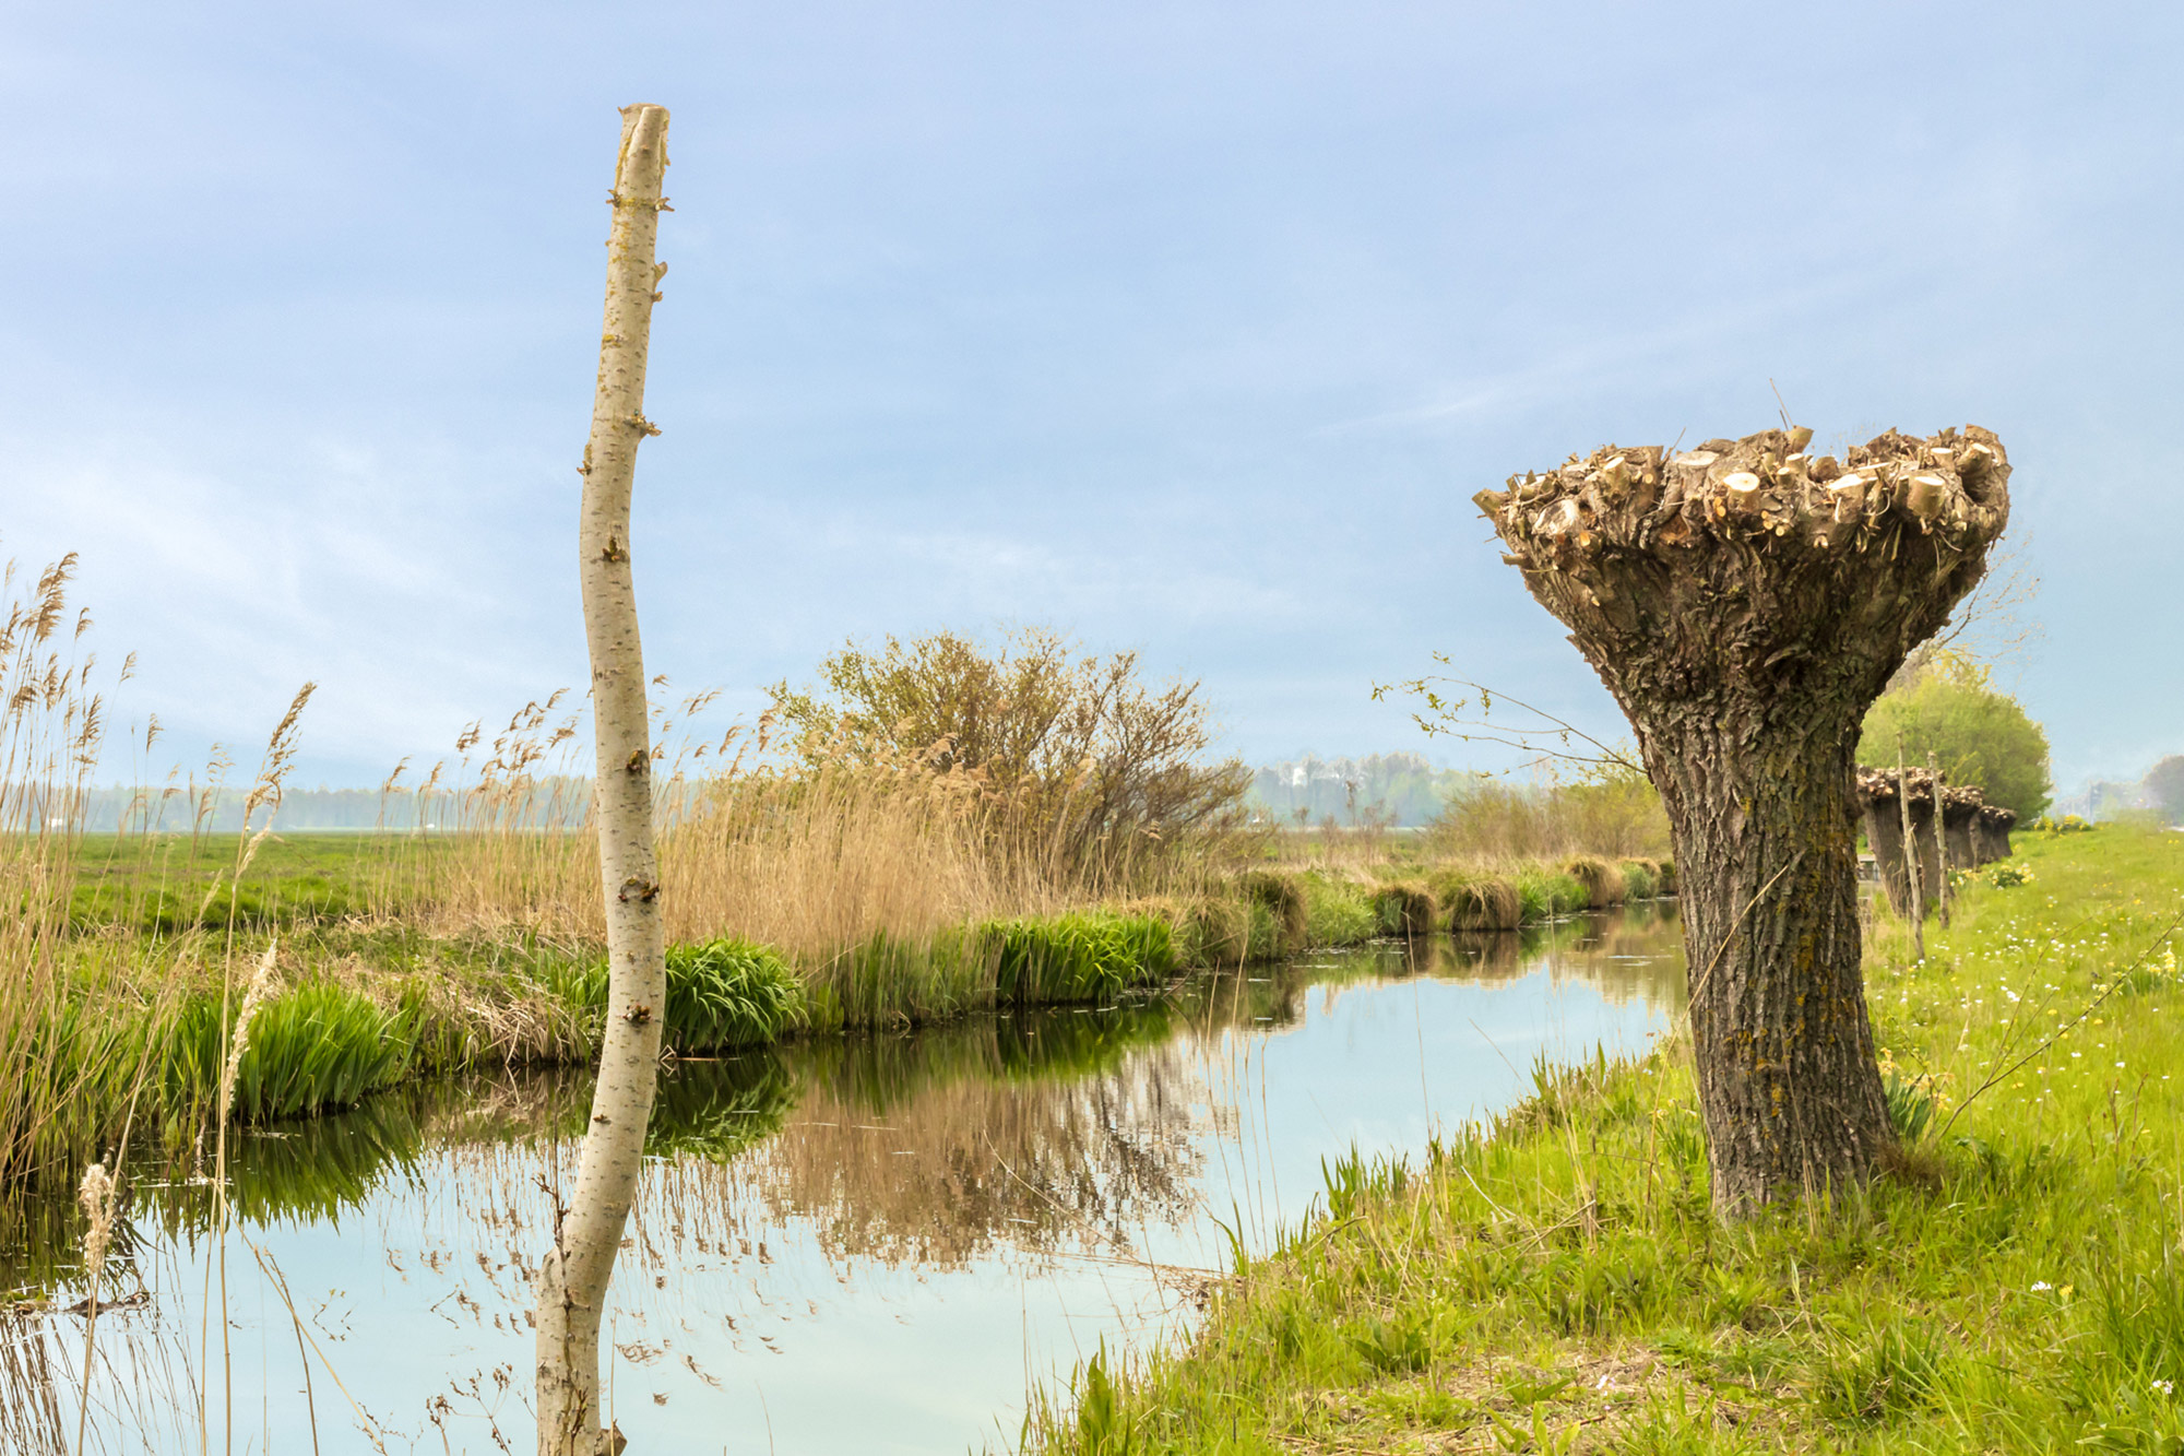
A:
<svg viewBox="0 0 2184 1456">
<path fill-rule="evenodd" d="M 607 317 L 592 396 L 592 439 L 579 468 L 577 573 L 592 654 L 592 822 L 607 903 L 607 1030 L 577 1191 L 555 1220 L 555 1244 L 539 1259 L 535 1279 L 542 1456 L 622 1449 L 618 1430 L 601 1430 L 598 1325 L 642 1170 L 666 1008 L 660 868 L 653 857 L 653 752 L 629 562 L 638 444 L 660 433 L 644 420 L 644 356 L 660 297 L 653 289 L 666 271 L 653 262 L 660 212 L 666 208 L 660 195 L 666 142 L 666 109 L 622 109 L 622 151 L 609 197 Z"/>
</svg>

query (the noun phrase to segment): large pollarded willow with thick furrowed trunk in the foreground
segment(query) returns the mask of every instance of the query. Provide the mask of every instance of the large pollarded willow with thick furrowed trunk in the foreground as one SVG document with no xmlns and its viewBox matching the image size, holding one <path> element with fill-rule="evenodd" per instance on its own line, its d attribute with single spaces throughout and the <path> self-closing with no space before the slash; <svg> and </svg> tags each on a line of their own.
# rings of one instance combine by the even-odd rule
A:
<svg viewBox="0 0 2184 1456">
<path fill-rule="evenodd" d="M 1894 1143 L 1859 964 L 1865 708 L 2009 518 L 1983 428 L 1605 446 L 1479 507 L 1638 732 L 1690 962 L 1714 1207 L 1863 1181 Z"/>
</svg>

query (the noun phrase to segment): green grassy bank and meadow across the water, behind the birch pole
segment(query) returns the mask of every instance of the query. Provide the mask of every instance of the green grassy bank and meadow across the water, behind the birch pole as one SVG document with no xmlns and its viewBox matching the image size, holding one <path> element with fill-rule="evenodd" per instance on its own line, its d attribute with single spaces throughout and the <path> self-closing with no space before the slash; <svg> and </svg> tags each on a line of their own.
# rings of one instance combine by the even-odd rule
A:
<svg viewBox="0 0 2184 1456">
<path fill-rule="evenodd" d="M 836 805 L 836 829 L 860 815 L 869 829 L 869 805 Z M 871 835 L 865 848 L 900 861 L 904 824 L 893 831 L 895 842 Z M 39 942 L 57 984 L 33 1028 L 37 1078 L 22 1097 L 37 1119 L 17 1135 L 17 1163 L 31 1170 L 103 1154 L 131 1113 L 149 1130 L 138 1137 L 194 1141 L 218 1102 L 242 979 L 266 947 L 277 947 L 275 968 L 238 1065 L 240 1119 L 354 1106 L 454 1069 L 585 1062 L 598 1045 L 603 949 L 574 907 L 542 894 L 581 885 L 581 835 L 103 835 L 66 855 L 66 914 Z M 670 951 L 668 1045 L 708 1054 L 1000 1006 L 1112 1001 L 1195 968 L 1378 936 L 1516 929 L 1651 894 L 1664 866 L 1267 864 L 1199 872 L 1166 894 L 1026 894 L 1016 914 L 954 920 L 898 914 L 898 877 L 867 896 L 878 905 L 819 905 L 808 916 L 817 929 L 747 896 L 684 912 L 679 929 L 703 934 Z M 867 864 L 834 899 L 858 899 L 874 881 Z M 496 885 L 498 899 L 480 890 Z M 992 888 L 943 896 L 957 914 L 1007 903 Z M 738 936 L 745 925 L 786 929 L 764 942 Z"/>
</svg>

